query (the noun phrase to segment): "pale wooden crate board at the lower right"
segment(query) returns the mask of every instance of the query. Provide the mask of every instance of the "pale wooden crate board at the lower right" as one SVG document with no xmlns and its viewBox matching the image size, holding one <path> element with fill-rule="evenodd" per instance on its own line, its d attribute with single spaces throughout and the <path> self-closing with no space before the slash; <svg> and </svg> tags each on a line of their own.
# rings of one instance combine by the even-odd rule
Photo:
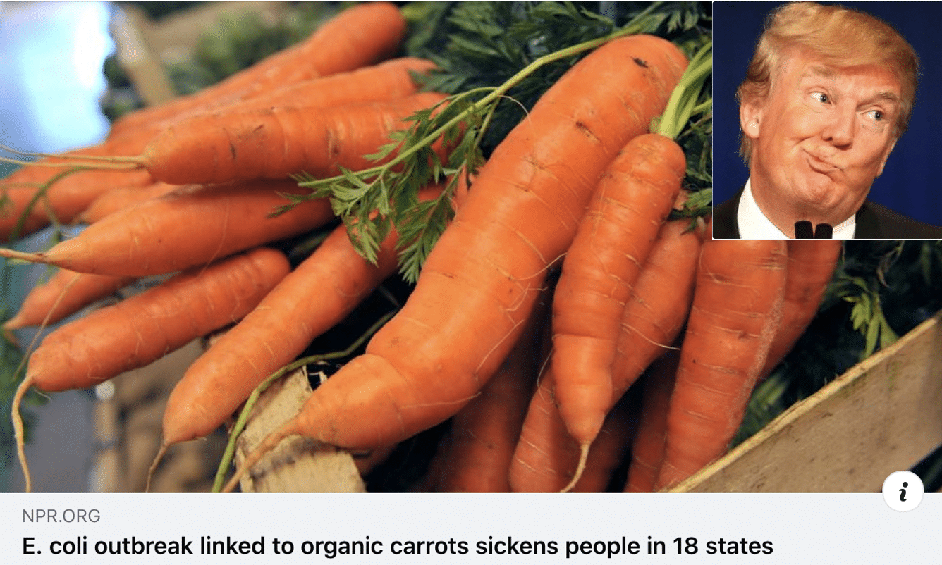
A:
<svg viewBox="0 0 942 565">
<path fill-rule="evenodd" d="M 942 312 L 673 492 L 880 492 L 942 444 Z"/>
</svg>

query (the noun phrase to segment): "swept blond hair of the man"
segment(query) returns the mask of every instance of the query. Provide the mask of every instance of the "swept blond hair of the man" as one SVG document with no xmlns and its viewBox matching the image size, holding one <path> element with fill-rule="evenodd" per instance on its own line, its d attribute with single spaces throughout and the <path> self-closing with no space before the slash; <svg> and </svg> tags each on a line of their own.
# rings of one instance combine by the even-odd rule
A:
<svg viewBox="0 0 942 565">
<path fill-rule="evenodd" d="M 780 69 L 782 56 L 793 48 L 804 48 L 835 67 L 879 64 L 893 73 L 901 86 L 900 114 L 895 124 L 899 138 L 909 123 L 918 84 L 918 57 L 913 47 L 882 20 L 842 6 L 795 2 L 771 12 L 746 70 L 746 79 L 736 91 L 739 104 L 769 95 L 773 71 Z M 749 164 L 752 139 L 740 136 L 739 154 Z"/>
</svg>

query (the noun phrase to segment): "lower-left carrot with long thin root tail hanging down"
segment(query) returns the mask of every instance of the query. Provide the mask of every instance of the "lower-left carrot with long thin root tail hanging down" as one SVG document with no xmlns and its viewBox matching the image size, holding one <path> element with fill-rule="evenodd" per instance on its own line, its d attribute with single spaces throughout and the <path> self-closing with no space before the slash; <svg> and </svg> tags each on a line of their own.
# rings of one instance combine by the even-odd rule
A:
<svg viewBox="0 0 942 565">
<path fill-rule="evenodd" d="M 47 335 L 30 355 L 13 400 L 26 490 L 30 482 L 19 403 L 29 387 L 47 392 L 85 388 L 151 363 L 248 314 L 288 269 L 281 252 L 259 248 L 176 275 Z"/>
</svg>

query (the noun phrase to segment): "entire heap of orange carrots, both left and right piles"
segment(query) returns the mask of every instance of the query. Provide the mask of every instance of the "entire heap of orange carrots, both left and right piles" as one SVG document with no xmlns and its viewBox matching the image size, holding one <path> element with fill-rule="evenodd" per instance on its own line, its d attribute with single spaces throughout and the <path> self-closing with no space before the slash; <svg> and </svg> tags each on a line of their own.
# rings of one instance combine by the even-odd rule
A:
<svg viewBox="0 0 942 565">
<path fill-rule="evenodd" d="M 4 238 L 89 227 L 40 253 L 2 251 L 58 267 L 5 331 L 173 274 L 51 332 L 17 398 L 89 387 L 228 328 L 171 393 L 156 465 L 227 422 L 394 275 L 395 231 L 367 261 L 350 234 L 368 226 L 336 225 L 329 199 L 271 212 L 310 192 L 296 175 L 394 158 L 381 149 L 410 116 L 447 105 L 414 82 L 430 61 L 389 58 L 404 34 L 394 5 L 356 5 L 213 88 L 118 121 L 99 146 L 8 177 Z M 446 421 L 430 491 L 604 491 L 626 465 L 618 489 L 650 492 L 721 457 L 756 382 L 815 315 L 841 248 L 713 241 L 708 217 L 671 219 L 687 197 L 676 138 L 705 111 L 691 101 L 710 58 L 649 35 L 599 40 L 486 164 L 450 171 L 464 182 L 448 196 L 455 216 L 409 299 L 226 490 L 291 435 L 388 453 Z M 273 245 L 315 230 L 330 234 L 298 265 Z"/>
</svg>

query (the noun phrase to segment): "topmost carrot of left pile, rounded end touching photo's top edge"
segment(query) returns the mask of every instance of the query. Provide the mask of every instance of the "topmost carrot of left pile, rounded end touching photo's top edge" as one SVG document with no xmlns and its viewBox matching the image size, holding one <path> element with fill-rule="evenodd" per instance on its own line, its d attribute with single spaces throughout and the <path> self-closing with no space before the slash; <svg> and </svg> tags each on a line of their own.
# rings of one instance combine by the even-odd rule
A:
<svg viewBox="0 0 942 565">
<path fill-rule="evenodd" d="M 365 2 L 345 9 L 306 40 L 222 80 L 164 105 L 144 108 L 116 121 L 112 132 L 179 119 L 194 112 L 250 99 L 303 80 L 359 69 L 398 49 L 405 19 L 389 2 Z"/>
</svg>

